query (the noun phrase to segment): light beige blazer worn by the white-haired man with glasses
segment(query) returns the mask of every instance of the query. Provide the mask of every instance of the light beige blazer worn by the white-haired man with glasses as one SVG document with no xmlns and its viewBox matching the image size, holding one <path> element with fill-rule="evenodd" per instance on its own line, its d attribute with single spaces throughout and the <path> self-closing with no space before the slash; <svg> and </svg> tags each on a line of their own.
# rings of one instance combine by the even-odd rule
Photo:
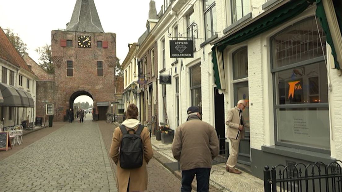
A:
<svg viewBox="0 0 342 192">
<path fill-rule="evenodd" d="M 241 112 L 241 118 L 242 118 L 242 122 L 244 123 L 244 126 L 249 127 L 249 124 L 245 122 L 242 112 Z M 239 109 L 237 107 L 234 107 L 233 109 L 230 109 L 228 111 L 226 125 L 228 125 L 228 130 L 227 130 L 227 135 L 226 135 L 227 138 L 237 139 L 239 134 L 241 134 L 241 138 L 245 137 L 245 129 L 242 129 L 242 131 L 239 130 L 240 115 L 239 115 Z"/>
</svg>

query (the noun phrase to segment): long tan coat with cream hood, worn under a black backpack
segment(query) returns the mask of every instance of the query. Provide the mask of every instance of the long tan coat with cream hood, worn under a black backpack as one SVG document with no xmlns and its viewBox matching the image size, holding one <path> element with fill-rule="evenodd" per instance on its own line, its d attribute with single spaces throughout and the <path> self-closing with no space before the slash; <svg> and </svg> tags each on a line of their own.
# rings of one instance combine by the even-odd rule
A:
<svg viewBox="0 0 342 192">
<path fill-rule="evenodd" d="M 123 125 L 126 129 L 138 129 L 140 122 L 135 119 L 125 120 Z M 141 139 L 144 146 L 144 160 L 143 165 L 136 169 L 122 169 L 119 161 L 119 149 L 121 146 L 122 132 L 120 127 L 114 129 L 113 140 L 110 146 L 110 157 L 117 164 L 117 181 L 119 192 L 127 192 L 128 180 L 130 179 L 130 191 L 145 191 L 147 189 L 147 163 L 153 157 L 153 149 L 151 140 L 149 137 L 149 131 L 147 127 L 144 127 L 141 132 Z"/>
</svg>

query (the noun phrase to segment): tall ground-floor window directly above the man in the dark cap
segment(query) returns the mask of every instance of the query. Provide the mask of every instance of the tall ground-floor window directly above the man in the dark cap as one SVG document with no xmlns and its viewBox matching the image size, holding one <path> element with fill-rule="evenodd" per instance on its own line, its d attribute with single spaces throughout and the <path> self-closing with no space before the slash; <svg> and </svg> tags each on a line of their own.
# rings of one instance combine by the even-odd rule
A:
<svg viewBox="0 0 342 192">
<path fill-rule="evenodd" d="M 198 107 L 199 111 L 202 111 L 200 64 L 190 68 L 190 91 L 191 91 L 191 105 Z"/>
</svg>

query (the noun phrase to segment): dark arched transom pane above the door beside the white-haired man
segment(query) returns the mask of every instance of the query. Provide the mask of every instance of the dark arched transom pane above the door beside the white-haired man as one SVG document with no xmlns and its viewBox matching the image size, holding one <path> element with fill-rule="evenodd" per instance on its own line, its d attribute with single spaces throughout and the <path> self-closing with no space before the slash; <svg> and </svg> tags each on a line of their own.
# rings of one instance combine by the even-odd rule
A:
<svg viewBox="0 0 342 192">
<path fill-rule="evenodd" d="M 233 69 L 234 80 L 248 77 L 247 47 L 233 53 Z"/>
</svg>

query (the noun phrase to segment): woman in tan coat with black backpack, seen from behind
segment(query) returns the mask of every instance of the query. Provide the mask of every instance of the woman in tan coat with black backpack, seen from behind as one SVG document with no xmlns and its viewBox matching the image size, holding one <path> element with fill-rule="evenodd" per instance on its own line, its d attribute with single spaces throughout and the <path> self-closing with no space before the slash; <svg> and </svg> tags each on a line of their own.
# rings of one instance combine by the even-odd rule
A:
<svg viewBox="0 0 342 192">
<path fill-rule="evenodd" d="M 126 110 L 126 120 L 114 129 L 110 157 L 117 165 L 119 192 L 147 190 L 147 163 L 153 157 L 148 128 L 137 120 L 136 105 Z"/>
</svg>

